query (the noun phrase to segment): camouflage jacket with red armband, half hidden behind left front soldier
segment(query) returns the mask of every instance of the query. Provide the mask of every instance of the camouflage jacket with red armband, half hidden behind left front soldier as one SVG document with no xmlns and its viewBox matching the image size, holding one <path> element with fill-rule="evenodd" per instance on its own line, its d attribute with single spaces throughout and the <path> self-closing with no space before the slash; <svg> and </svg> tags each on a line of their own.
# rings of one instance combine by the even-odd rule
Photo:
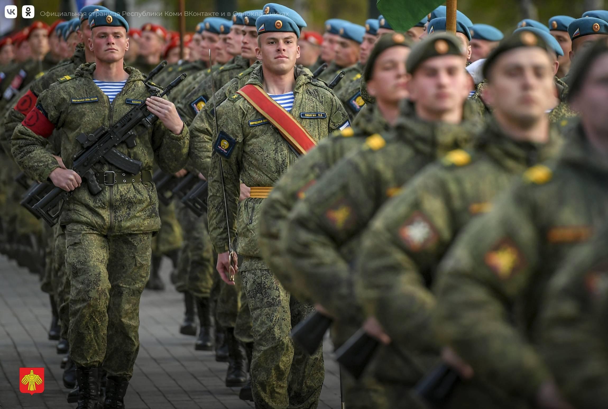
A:
<svg viewBox="0 0 608 409">
<path fill-rule="evenodd" d="M 10 138 L 13 136 L 13 132 L 19 123 L 25 119 L 26 114 L 36 105 L 36 99 L 42 94 L 45 89 L 50 87 L 50 84 L 57 81 L 59 78 L 64 78 L 65 75 L 73 75 L 76 72 L 76 69 L 80 66 L 80 64 L 86 63 L 85 60 L 85 46 L 83 43 L 80 43 L 76 46 L 74 51 L 74 55 L 69 60 L 64 60 L 65 62 L 57 64 L 57 66 L 50 69 L 46 74 L 42 77 L 38 78 L 38 80 L 33 81 L 30 85 L 29 90 L 24 89 L 16 98 L 16 103 L 13 108 L 7 109 L 7 112 L 4 114 L 2 118 L 2 122 L 0 123 L 1 134 L 0 134 L 0 143 L 5 148 L 5 151 L 10 155 Z M 27 95 L 27 91 L 32 92 L 32 95 Z M 24 114 L 25 112 L 25 114 Z M 55 133 L 55 132 L 54 132 Z M 57 141 L 54 136 L 49 137 L 49 142 L 54 145 L 51 148 L 52 151 L 58 153 L 58 148 L 61 144 L 60 141 Z"/>
</svg>

